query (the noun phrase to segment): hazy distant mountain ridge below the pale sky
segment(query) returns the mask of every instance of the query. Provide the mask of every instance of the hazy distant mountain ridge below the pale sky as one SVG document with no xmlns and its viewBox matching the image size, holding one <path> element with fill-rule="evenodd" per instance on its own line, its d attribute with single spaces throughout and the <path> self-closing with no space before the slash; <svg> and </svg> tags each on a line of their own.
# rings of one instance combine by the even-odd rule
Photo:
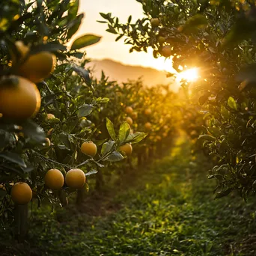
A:
<svg viewBox="0 0 256 256">
<path fill-rule="evenodd" d="M 144 85 L 149 87 L 155 85 L 171 85 L 174 91 L 177 91 L 177 85 L 174 80 L 166 77 L 166 72 L 155 70 L 150 67 L 130 66 L 121 64 L 110 59 L 93 60 L 87 67 L 93 68 L 93 75 L 100 79 L 103 70 L 110 80 L 117 82 L 127 82 L 128 79 L 136 80 L 141 77 Z"/>
</svg>

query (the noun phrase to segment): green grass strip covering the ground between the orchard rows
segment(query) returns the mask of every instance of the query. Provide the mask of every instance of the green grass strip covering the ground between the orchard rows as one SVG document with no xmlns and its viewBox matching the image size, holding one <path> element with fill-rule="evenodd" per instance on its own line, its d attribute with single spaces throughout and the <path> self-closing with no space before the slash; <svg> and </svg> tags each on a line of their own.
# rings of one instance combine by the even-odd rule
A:
<svg viewBox="0 0 256 256">
<path fill-rule="evenodd" d="M 213 200 L 208 168 L 180 138 L 168 156 L 103 196 L 100 216 L 88 214 L 88 205 L 86 212 L 69 207 L 52 215 L 44 208 L 34 213 L 25 243 L 13 246 L 1 235 L 0 249 L 5 245 L 3 255 L 256 255 L 255 204 L 236 195 Z"/>
</svg>

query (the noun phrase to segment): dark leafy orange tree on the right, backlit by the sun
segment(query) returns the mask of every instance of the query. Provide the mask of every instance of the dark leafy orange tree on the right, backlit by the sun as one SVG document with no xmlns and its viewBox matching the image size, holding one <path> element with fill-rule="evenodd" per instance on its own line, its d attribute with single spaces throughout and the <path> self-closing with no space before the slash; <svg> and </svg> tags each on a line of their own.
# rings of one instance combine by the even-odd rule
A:
<svg viewBox="0 0 256 256">
<path fill-rule="evenodd" d="M 121 24 L 102 13 L 108 31 L 124 37 L 131 52 L 173 56 L 177 72 L 200 68 L 198 105 L 207 124 L 199 139 L 217 159 L 209 174 L 216 198 L 255 193 L 255 1 L 137 1 L 144 18 Z"/>
</svg>

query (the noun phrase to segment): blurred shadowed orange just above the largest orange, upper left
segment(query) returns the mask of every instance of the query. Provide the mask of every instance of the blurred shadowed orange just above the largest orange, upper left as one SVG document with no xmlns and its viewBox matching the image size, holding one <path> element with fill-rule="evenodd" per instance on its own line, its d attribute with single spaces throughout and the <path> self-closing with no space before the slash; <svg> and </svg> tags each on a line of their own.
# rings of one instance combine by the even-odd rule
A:
<svg viewBox="0 0 256 256">
<path fill-rule="evenodd" d="M 51 52 L 38 52 L 34 55 L 29 55 L 29 48 L 22 41 L 15 43 L 19 50 L 22 60 L 19 67 L 19 74 L 26 77 L 32 82 L 40 82 L 49 76 L 54 70 L 56 57 Z M 16 62 L 13 59 L 14 63 Z"/>
</svg>

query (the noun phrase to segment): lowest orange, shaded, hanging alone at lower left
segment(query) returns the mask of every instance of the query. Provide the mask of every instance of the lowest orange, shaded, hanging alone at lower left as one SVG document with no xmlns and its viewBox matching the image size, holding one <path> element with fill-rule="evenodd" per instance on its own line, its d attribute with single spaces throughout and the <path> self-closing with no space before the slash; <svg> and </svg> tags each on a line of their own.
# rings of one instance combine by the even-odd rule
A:
<svg viewBox="0 0 256 256">
<path fill-rule="evenodd" d="M 10 190 L 10 198 L 16 204 L 28 204 L 32 198 L 32 190 L 27 183 L 17 182 Z"/>
</svg>

